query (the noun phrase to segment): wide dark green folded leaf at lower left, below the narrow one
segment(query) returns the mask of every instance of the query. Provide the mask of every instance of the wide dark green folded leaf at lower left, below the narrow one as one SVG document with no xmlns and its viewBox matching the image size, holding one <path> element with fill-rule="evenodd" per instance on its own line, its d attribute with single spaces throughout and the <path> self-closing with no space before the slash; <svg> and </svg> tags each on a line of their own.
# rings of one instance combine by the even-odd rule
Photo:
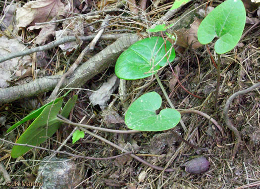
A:
<svg viewBox="0 0 260 189">
<path fill-rule="evenodd" d="M 59 100 L 53 105 L 46 106 L 16 143 L 39 145 L 40 143 L 45 142 L 48 137 L 51 137 L 61 125 L 61 122 L 56 119 L 56 115 L 58 114 L 61 105 L 62 100 Z M 46 127 L 47 122 L 48 127 Z M 12 158 L 17 158 L 30 149 L 31 147 L 28 146 L 15 145 L 12 148 L 11 156 Z"/>
</svg>

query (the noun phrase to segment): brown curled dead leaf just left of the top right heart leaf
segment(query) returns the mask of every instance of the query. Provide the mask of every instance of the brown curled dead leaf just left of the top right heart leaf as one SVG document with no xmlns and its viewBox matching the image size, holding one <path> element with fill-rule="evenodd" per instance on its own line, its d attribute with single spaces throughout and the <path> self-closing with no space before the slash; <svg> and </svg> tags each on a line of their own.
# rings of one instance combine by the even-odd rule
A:
<svg viewBox="0 0 260 189">
<path fill-rule="evenodd" d="M 182 28 L 177 31 L 174 31 L 175 35 L 177 36 L 177 41 L 175 42 L 175 44 L 177 46 L 181 46 L 185 48 L 189 47 L 192 44 L 193 49 L 202 47 L 202 44 L 200 44 L 200 42 L 198 41 L 198 35 L 197 35 L 198 28 L 201 22 L 202 22 L 201 19 L 195 17 L 195 20 L 191 24 L 191 28 L 189 30 Z M 171 39 L 168 40 L 171 43 L 173 43 Z"/>
</svg>

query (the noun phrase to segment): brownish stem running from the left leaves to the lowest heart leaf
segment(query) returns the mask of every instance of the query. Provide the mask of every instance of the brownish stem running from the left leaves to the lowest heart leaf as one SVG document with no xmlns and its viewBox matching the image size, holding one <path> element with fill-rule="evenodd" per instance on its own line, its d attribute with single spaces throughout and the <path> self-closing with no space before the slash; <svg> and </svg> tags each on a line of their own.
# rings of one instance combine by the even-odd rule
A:
<svg viewBox="0 0 260 189">
<path fill-rule="evenodd" d="M 94 127 L 94 126 L 90 126 L 90 125 L 74 123 L 74 122 L 66 119 L 65 117 L 63 117 L 59 114 L 56 116 L 56 119 L 59 120 L 62 123 L 67 123 L 67 124 L 78 126 L 78 127 L 84 127 L 84 128 L 87 128 L 87 129 L 94 129 L 94 130 L 99 130 L 99 131 L 104 131 L 104 132 L 109 132 L 109 133 L 131 134 L 131 133 L 139 133 L 140 132 L 140 131 L 136 131 L 136 130 L 122 131 L 122 130 L 105 129 L 105 128 L 102 128 L 102 127 Z"/>
</svg>

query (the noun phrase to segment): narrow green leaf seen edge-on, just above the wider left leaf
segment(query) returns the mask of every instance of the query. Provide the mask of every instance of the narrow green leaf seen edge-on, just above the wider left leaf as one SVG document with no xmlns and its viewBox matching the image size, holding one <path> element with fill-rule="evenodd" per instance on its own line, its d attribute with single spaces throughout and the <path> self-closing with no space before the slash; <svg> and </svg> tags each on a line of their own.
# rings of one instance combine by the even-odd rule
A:
<svg viewBox="0 0 260 189">
<path fill-rule="evenodd" d="M 18 121 L 17 123 L 15 123 L 14 125 L 12 125 L 8 130 L 7 133 L 9 133 L 10 131 L 14 130 L 16 127 L 18 127 L 19 125 L 21 125 L 22 123 L 30 120 L 30 119 L 34 119 L 36 117 L 38 117 L 44 110 L 44 108 L 46 108 L 46 106 L 50 105 L 50 104 L 55 104 L 56 102 L 60 101 L 61 99 L 63 99 L 71 90 L 69 90 L 66 94 L 64 94 L 61 97 L 56 98 L 55 100 L 52 100 L 51 102 L 43 105 L 42 107 L 32 111 L 31 113 L 29 113 L 27 116 L 25 116 L 23 119 L 21 119 L 20 121 Z"/>
</svg>

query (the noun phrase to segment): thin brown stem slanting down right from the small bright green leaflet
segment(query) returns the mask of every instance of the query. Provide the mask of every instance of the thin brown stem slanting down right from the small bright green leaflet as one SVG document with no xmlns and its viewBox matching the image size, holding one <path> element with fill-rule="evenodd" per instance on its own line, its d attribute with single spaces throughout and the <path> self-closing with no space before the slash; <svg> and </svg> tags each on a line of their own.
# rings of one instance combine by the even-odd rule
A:
<svg viewBox="0 0 260 189">
<path fill-rule="evenodd" d="M 94 134 L 94 133 L 92 133 L 92 132 L 90 132 L 90 131 L 88 131 L 88 130 L 86 130 L 86 129 L 84 129 L 84 128 L 82 128 L 82 130 L 83 130 L 84 132 L 86 132 L 87 134 L 89 134 L 89 135 L 91 135 L 91 136 L 93 136 L 93 137 L 95 137 L 95 138 L 97 138 L 97 139 L 99 139 L 99 140 L 101 140 L 101 141 L 103 141 L 103 142 L 105 142 L 105 143 L 108 143 L 109 145 L 111 145 L 111 146 L 113 146 L 113 147 L 115 147 L 115 148 L 121 150 L 122 152 L 125 151 L 125 153 L 129 153 L 128 150 L 126 150 L 126 149 L 120 147 L 119 145 L 116 145 L 116 144 L 113 143 L 113 142 L 107 141 L 107 140 L 104 139 L 103 137 L 100 137 L 100 136 L 98 136 L 98 135 L 96 135 L 96 134 Z M 140 157 L 138 157 L 138 156 L 136 156 L 136 155 L 134 155 L 134 154 L 131 154 L 131 153 L 130 153 L 129 155 L 130 155 L 131 157 L 135 158 L 136 160 L 140 161 L 141 163 L 143 163 L 143 164 L 145 164 L 145 165 L 147 165 L 147 166 L 149 166 L 149 167 L 152 167 L 153 169 L 156 169 L 156 170 L 159 170 L 159 171 L 162 171 L 162 170 L 163 170 L 162 167 L 158 167 L 158 166 L 156 166 L 156 165 L 153 165 L 153 164 L 151 164 L 151 163 L 148 163 L 148 162 L 146 162 L 145 160 L 143 160 L 142 158 L 140 158 Z M 174 169 L 165 169 L 164 171 L 166 171 L 166 172 L 173 172 Z"/>
</svg>

